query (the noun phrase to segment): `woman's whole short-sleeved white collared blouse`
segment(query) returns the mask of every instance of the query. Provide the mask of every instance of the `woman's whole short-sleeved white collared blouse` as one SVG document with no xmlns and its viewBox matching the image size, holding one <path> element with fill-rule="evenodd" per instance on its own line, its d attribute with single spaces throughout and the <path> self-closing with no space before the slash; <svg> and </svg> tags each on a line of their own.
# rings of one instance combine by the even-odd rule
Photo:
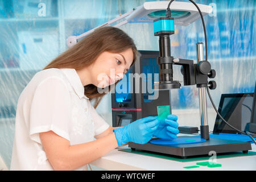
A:
<svg viewBox="0 0 256 182">
<path fill-rule="evenodd" d="M 50 68 L 34 75 L 16 108 L 11 170 L 53 170 L 39 133 L 53 131 L 81 144 L 109 128 L 84 95 L 75 69 Z M 76 170 L 86 170 L 87 165 Z"/>
</svg>

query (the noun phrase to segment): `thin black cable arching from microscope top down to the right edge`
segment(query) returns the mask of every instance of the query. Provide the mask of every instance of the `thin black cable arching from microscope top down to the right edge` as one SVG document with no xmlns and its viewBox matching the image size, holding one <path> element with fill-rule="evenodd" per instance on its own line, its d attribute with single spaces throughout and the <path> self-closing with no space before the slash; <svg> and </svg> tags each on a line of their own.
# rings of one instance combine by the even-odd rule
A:
<svg viewBox="0 0 256 182">
<path fill-rule="evenodd" d="M 204 23 L 203 14 L 202 14 L 200 8 L 196 5 L 195 2 L 193 2 L 192 0 L 188 0 L 188 1 L 192 2 L 193 5 L 196 6 L 196 8 L 197 8 L 197 10 L 199 11 L 199 14 L 200 14 L 200 16 L 201 16 L 201 20 L 202 20 L 203 27 L 204 27 L 204 38 L 205 38 L 205 61 L 207 61 L 207 53 L 208 53 L 208 51 L 207 51 L 207 32 L 206 32 L 206 28 L 205 28 L 205 23 Z M 171 0 L 171 1 L 169 2 L 168 7 L 167 7 L 167 10 L 166 10 L 166 11 L 167 11 L 166 14 L 167 14 L 168 17 L 171 17 L 170 5 L 171 5 L 172 2 L 174 2 L 174 0 Z M 218 110 L 216 109 L 216 106 L 214 105 L 214 102 L 213 102 L 213 100 L 212 100 L 212 97 L 210 96 L 210 92 L 209 92 L 209 87 L 208 87 L 208 86 L 207 86 L 207 93 L 208 93 L 208 96 L 209 96 L 209 98 L 210 98 L 210 102 L 212 102 L 212 105 L 213 105 L 214 110 L 216 111 L 216 113 L 218 114 L 218 116 L 222 119 L 222 121 L 224 121 L 224 122 L 226 123 L 226 125 L 228 125 L 228 126 L 231 127 L 232 129 L 238 131 L 239 133 L 249 136 L 249 137 L 253 140 L 254 144 L 256 145 L 256 142 L 255 142 L 254 138 L 251 137 L 251 134 L 250 134 L 248 131 L 243 132 L 243 131 L 241 131 L 241 130 L 238 130 L 238 129 L 236 129 L 235 127 L 233 127 L 232 125 L 230 125 L 228 122 L 226 122 L 224 118 L 222 118 L 222 116 L 220 115 L 220 113 L 218 113 Z"/>
</svg>

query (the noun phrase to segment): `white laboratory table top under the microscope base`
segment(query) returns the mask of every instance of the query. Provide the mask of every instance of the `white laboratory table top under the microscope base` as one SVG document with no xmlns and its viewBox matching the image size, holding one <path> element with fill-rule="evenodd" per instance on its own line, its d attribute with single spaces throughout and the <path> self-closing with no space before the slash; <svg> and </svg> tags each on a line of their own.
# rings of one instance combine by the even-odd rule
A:
<svg viewBox="0 0 256 182">
<path fill-rule="evenodd" d="M 251 143 L 252 150 L 256 152 L 256 146 Z M 127 146 L 121 148 L 128 148 Z M 218 154 L 217 154 L 218 155 Z M 210 156 L 209 156 L 210 158 Z M 256 155 L 239 156 L 234 158 L 216 159 L 216 163 L 222 167 L 209 168 L 200 166 L 199 168 L 186 169 L 183 167 L 196 166 L 197 162 L 207 162 L 208 160 L 198 160 L 193 162 L 177 162 L 170 159 L 155 158 L 141 154 L 132 154 L 130 152 L 118 151 L 118 148 L 95 160 L 91 164 L 106 170 L 152 170 L 152 171 L 251 171 L 256 170 Z"/>
</svg>

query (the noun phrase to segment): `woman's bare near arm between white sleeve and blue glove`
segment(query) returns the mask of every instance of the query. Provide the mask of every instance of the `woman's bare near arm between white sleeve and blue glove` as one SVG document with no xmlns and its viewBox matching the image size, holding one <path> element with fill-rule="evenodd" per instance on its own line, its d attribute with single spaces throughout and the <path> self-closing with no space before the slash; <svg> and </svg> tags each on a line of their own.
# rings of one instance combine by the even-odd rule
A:
<svg viewBox="0 0 256 182">
<path fill-rule="evenodd" d="M 40 133 L 44 151 L 55 170 L 73 170 L 118 147 L 113 132 L 92 142 L 70 145 L 69 140 L 60 137 L 53 131 Z"/>
</svg>

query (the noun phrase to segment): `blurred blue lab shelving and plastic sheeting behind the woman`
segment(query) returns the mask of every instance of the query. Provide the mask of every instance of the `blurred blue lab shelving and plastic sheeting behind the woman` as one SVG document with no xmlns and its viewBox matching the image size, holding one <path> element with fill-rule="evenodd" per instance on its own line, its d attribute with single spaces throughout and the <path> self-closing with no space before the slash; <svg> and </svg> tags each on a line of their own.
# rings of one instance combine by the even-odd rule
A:
<svg viewBox="0 0 256 182">
<path fill-rule="evenodd" d="M 179 0 L 182 1 L 182 0 Z M 119 14 L 140 6 L 144 0 L 0 0 L 0 160 L 10 168 L 16 104 L 22 90 L 57 55 L 65 51 L 65 40 L 80 35 Z M 184 1 L 188 2 L 188 1 Z M 195 0 L 213 7 L 204 16 L 208 38 L 208 61 L 216 70 L 218 106 L 222 93 L 254 92 L 256 78 L 256 1 Z M 159 51 L 152 23 L 125 24 L 121 28 L 139 50 Z M 204 43 L 201 19 L 187 27 L 175 26 L 171 36 L 174 57 L 196 60 L 196 43 Z M 174 65 L 174 80 L 183 80 Z M 181 83 L 182 86 L 182 83 Z M 172 114 L 179 126 L 200 127 L 196 86 L 171 90 Z M 96 109 L 112 125 L 111 96 Z M 208 100 L 209 129 L 216 113 Z"/>
</svg>

